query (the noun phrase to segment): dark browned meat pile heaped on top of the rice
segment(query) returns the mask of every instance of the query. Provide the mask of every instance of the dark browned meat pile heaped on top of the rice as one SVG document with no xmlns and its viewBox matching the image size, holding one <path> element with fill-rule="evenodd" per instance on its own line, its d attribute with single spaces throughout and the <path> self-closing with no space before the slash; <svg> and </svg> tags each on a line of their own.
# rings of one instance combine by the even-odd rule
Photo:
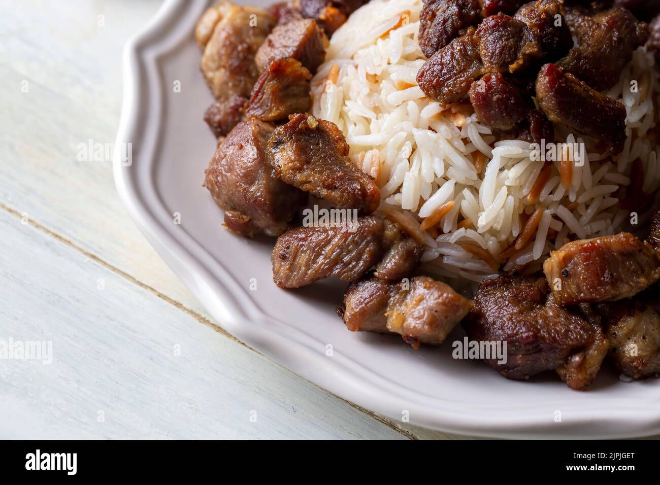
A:
<svg viewBox="0 0 660 485">
<path fill-rule="evenodd" d="M 419 39 L 428 61 L 417 82 L 443 106 L 469 98 L 502 138 L 552 142 L 552 121 L 618 154 L 626 109 L 601 92 L 649 37 L 626 3 L 424 0 Z M 651 39 L 660 47 L 660 32 Z"/>
</svg>

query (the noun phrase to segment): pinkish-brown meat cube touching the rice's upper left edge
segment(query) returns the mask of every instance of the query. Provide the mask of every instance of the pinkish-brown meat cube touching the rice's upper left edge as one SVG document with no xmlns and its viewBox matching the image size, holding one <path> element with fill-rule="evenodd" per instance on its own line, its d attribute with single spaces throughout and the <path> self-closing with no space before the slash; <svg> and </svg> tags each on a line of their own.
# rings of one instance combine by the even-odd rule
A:
<svg viewBox="0 0 660 485">
<path fill-rule="evenodd" d="M 275 59 L 292 57 L 314 74 L 316 68 L 325 59 L 325 42 L 327 38 L 323 30 L 311 18 L 278 25 L 257 51 L 255 56 L 257 69 L 261 73 L 271 57 Z"/>
</svg>

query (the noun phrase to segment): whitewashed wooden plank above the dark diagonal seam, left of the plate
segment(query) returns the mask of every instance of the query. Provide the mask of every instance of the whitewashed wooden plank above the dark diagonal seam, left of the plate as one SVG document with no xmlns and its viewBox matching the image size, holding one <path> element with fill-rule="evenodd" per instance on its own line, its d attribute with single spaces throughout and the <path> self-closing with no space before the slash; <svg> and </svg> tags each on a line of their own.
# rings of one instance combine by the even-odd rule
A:
<svg viewBox="0 0 660 485">
<path fill-rule="evenodd" d="M 5 113 L 0 119 L 0 203 L 183 309 L 187 315 L 182 319 L 205 321 L 203 307 L 128 218 L 116 195 L 110 160 L 77 160 L 80 143 L 114 141 L 121 48 L 159 5 L 29 0 L 0 18 L 0 76 L 9 86 L 0 90 Z M 259 359 L 253 362 L 268 372 L 288 374 Z M 337 400 L 320 392 L 307 399 L 316 402 L 310 409 L 319 401 Z M 412 437 L 444 437 L 407 424 L 396 426 Z"/>
</svg>

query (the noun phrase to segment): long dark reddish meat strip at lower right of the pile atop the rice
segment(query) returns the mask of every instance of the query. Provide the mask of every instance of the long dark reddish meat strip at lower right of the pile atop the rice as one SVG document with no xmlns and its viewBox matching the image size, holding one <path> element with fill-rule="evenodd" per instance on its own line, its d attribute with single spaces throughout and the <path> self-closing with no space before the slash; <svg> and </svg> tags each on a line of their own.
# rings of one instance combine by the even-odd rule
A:
<svg viewBox="0 0 660 485">
<path fill-rule="evenodd" d="M 612 154 L 626 141 L 626 108 L 580 82 L 556 64 L 546 64 L 537 78 L 537 100 L 554 123 L 604 141 Z"/>
</svg>

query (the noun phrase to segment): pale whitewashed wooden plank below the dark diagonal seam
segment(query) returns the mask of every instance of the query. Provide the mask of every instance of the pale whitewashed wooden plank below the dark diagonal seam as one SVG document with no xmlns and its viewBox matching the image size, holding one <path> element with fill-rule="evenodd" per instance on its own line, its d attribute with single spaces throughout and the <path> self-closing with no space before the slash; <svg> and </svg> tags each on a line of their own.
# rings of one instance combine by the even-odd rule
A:
<svg viewBox="0 0 660 485">
<path fill-rule="evenodd" d="M 52 346 L 0 360 L 0 437 L 405 438 L 5 211 L 0 232 L 0 340 Z"/>
</svg>

